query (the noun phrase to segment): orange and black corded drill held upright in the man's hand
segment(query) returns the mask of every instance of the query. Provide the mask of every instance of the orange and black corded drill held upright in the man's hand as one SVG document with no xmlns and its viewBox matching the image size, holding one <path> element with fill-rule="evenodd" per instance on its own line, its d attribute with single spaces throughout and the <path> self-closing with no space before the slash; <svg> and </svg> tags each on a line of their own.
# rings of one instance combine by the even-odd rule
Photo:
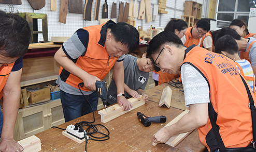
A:
<svg viewBox="0 0 256 152">
<path fill-rule="evenodd" d="M 107 82 L 106 81 L 96 81 L 95 83 L 96 91 L 98 94 L 98 97 L 102 99 L 103 105 L 105 107 L 105 110 L 107 112 Z"/>
</svg>

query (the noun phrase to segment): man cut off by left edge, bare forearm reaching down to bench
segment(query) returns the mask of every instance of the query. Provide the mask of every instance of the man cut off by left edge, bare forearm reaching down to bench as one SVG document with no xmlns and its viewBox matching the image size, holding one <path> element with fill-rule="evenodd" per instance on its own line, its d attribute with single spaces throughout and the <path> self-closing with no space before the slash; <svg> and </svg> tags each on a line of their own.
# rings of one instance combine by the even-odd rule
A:
<svg viewBox="0 0 256 152">
<path fill-rule="evenodd" d="M 23 55 L 30 44 L 31 30 L 19 13 L 0 10 L 0 151 L 23 151 L 13 139 L 20 106 Z M 0 107 L 1 108 L 1 107 Z"/>
</svg>

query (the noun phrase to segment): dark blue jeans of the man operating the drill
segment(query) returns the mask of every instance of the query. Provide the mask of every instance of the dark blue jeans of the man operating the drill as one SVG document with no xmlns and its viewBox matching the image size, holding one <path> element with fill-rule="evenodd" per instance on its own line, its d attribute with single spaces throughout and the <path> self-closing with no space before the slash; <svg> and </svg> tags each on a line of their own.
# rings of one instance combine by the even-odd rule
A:
<svg viewBox="0 0 256 152">
<path fill-rule="evenodd" d="M 88 102 L 91 104 L 93 111 L 97 110 L 98 106 L 98 95 L 94 91 L 90 95 L 84 95 Z M 88 104 L 86 99 L 82 95 L 73 95 L 61 91 L 61 104 L 63 108 L 63 114 L 65 122 L 77 119 L 82 115 L 86 115 L 92 112 L 91 106 Z"/>
</svg>

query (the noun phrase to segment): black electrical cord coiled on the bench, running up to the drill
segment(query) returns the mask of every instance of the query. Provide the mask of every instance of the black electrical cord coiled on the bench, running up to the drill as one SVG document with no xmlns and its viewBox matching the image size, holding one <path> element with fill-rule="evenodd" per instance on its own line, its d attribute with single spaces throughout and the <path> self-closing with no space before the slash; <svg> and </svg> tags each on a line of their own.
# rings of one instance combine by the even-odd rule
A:
<svg viewBox="0 0 256 152">
<path fill-rule="evenodd" d="M 87 122 L 87 121 L 82 121 L 82 122 L 79 122 L 79 123 L 76 123 L 75 127 L 79 127 L 81 129 L 81 132 L 83 132 L 84 134 L 84 139 L 86 139 L 86 146 L 85 146 L 85 150 L 87 151 L 87 143 L 88 143 L 88 140 L 94 140 L 94 141 L 105 141 L 105 140 L 108 140 L 110 137 L 109 137 L 109 130 L 102 124 L 95 124 L 93 125 L 92 123 L 95 122 L 95 116 L 94 116 L 94 111 L 93 111 L 93 108 L 91 106 L 91 104 L 89 103 L 89 101 L 87 100 L 86 96 L 84 96 L 84 94 L 82 93 L 81 89 L 80 89 L 80 86 L 83 87 L 83 83 L 79 83 L 78 84 L 78 88 L 81 92 L 81 94 L 83 95 L 83 97 L 86 99 L 87 103 L 90 105 L 91 109 L 92 109 L 92 113 L 93 113 L 93 122 Z M 86 129 L 86 131 L 84 131 L 83 127 L 84 126 L 88 126 L 88 128 Z M 96 126 L 102 126 L 103 128 L 105 128 L 107 130 L 107 134 L 106 133 L 103 133 L 101 131 L 98 131 L 98 128 Z M 62 130 L 66 130 L 66 129 L 63 129 L 63 128 L 59 128 L 59 127 L 51 127 L 51 128 L 58 128 L 58 129 L 62 129 Z M 90 130 L 93 130 L 92 132 L 90 132 Z M 80 130 L 79 130 L 80 132 Z M 93 136 L 92 134 L 93 133 L 99 133 L 99 134 L 102 134 L 103 137 L 96 137 L 96 136 Z M 87 136 L 89 137 L 89 139 L 87 139 Z M 91 136 L 91 137 L 90 137 Z"/>
</svg>

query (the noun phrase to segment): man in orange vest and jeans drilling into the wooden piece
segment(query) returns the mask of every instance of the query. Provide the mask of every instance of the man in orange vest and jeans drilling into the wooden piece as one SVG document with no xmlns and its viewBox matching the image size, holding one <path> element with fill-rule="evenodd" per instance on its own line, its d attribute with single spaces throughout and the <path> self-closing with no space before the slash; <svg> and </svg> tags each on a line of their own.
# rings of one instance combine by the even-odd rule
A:
<svg viewBox="0 0 256 152">
<path fill-rule="evenodd" d="M 133 52 L 138 44 L 139 33 L 135 27 L 111 20 L 78 29 L 63 43 L 54 59 L 61 64 L 56 83 L 60 85 L 66 122 L 92 112 L 91 106 L 93 111 L 97 110 L 95 82 L 101 81 L 112 67 L 116 76 L 117 103 L 129 111 L 132 104 L 124 97 L 123 55 Z"/>
</svg>

